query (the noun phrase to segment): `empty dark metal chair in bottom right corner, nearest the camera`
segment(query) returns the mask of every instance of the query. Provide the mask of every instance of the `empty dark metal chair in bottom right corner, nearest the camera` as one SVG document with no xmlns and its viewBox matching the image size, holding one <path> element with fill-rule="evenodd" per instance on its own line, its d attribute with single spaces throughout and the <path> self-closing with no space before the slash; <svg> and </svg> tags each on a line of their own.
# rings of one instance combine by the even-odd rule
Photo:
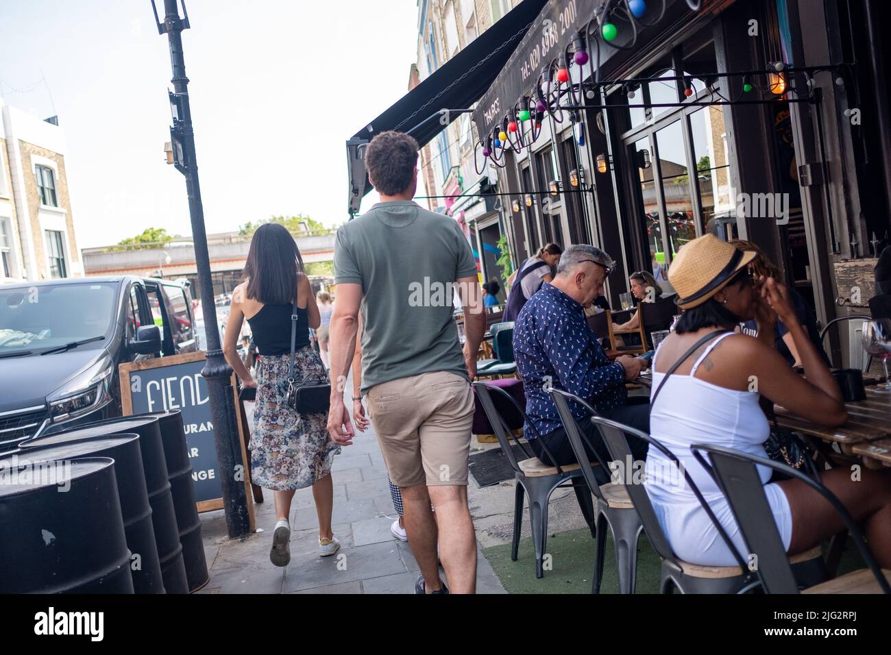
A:
<svg viewBox="0 0 891 655">
<path fill-rule="evenodd" d="M 756 464 L 766 466 L 773 471 L 781 471 L 793 479 L 799 479 L 813 488 L 830 502 L 838 515 L 845 522 L 854 544 L 866 562 L 867 569 L 854 571 L 846 576 L 829 582 L 809 587 L 807 594 L 891 594 L 891 571 L 882 571 L 873 558 L 870 549 L 863 541 L 862 532 L 857 522 L 847 512 L 845 505 L 838 500 L 828 488 L 785 464 L 774 462 L 766 457 L 739 451 L 723 446 L 694 444 L 691 452 L 703 468 L 715 479 L 718 487 L 731 506 L 733 516 L 740 526 L 740 532 L 746 542 L 749 557 L 756 564 L 755 571 L 764 591 L 767 594 L 798 594 L 799 586 L 789 566 L 789 557 L 783 548 L 780 531 L 767 496 L 764 485 L 758 476 Z M 708 460 L 702 453 L 708 454 Z"/>
</svg>

